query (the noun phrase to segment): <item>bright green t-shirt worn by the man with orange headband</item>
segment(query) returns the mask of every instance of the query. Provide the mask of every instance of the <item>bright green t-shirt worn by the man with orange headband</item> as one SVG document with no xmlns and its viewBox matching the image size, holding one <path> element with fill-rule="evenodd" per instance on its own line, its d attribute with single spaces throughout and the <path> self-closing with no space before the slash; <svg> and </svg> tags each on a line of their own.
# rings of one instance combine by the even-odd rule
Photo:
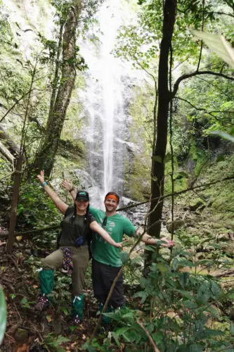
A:
<svg viewBox="0 0 234 352">
<path fill-rule="evenodd" d="M 89 208 L 89 212 L 93 215 L 98 224 L 102 226 L 105 212 L 93 207 Z M 133 223 L 118 213 L 113 216 L 108 216 L 106 225 L 102 227 L 117 243 L 122 242 L 124 234 L 131 237 L 136 232 L 136 227 L 134 227 Z M 91 252 L 93 258 L 100 263 L 115 267 L 122 266 L 122 261 L 119 258 L 119 249 L 108 244 L 103 237 L 100 237 L 97 233 L 94 233 L 92 237 Z"/>
</svg>

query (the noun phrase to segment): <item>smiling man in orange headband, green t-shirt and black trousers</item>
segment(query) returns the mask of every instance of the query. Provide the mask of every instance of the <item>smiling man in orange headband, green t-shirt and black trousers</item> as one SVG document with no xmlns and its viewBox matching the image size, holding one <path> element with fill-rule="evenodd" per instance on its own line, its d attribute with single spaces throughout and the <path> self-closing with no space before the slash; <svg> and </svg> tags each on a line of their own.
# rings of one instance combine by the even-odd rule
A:
<svg viewBox="0 0 234 352">
<path fill-rule="evenodd" d="M 74 199 L 77 193 L 74 190 L 72 183 L 64 180 L 62 184 L 67 191 L 70 191 L 70 194 Z M 110 234 L 112 239 L 119 243 L 122 242 L 124 234 L 129 237 L 139 235 L 133 223 L 117 213 L 116 210 L 119 205 L 119 196 L 115 192 L 109 192 L 105 196 L 104 205 L 105 212 L 93 207 L 90 207 L 89 211 L 98 224 Z M 155 245 L 157 244 L 158 239 L 152 238 L 148 234 L 144 234 L 141 241 L 145 242 L 145 244 Z M 166 239 L 163 239 L 163 241 L 167 243 L 162 244 L 162 246 L 174 246 L 174 241 L 167 241 Z M 93 256 L 93 293 L 98 300 L 99 309 L 102 311 L 110 287 L 112 286 L 112 282 L 122 267 L 122 261 L 119 258 L 119 249 L 110 246 L 110 244 L 105 242 L 97 233 L 92 237 L 91 252 Z M 115 284 L 106 313 L 110 312 L 113 308 L 121 308 L 122 306 L 124 306 L 123 274 L 120 275 Z M 103 321 L 109 322 L 109 319 L 104 316 Z"/>
</svg>

